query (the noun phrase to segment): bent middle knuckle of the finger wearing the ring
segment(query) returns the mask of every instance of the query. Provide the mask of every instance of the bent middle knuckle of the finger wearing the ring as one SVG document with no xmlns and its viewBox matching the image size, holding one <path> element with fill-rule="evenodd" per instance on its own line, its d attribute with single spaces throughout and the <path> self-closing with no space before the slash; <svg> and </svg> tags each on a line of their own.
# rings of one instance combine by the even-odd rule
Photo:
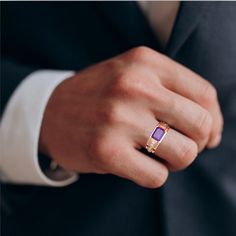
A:
<svg viewBox="0 0 236 236">
<path fill-rule="evenodd" d="M 179 164 L 178 170 L 184 169 L 189 166 L 198 154 L 198 146 L 194 141 L 186 142 L 180 147 L 178 156 Z"/>
</svg>

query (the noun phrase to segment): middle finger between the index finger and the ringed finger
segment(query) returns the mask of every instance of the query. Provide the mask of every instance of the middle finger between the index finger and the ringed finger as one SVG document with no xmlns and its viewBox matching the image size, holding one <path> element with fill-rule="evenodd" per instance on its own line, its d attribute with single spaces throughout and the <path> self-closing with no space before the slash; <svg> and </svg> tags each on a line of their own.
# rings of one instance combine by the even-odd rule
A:
<svg viewBox="0 0 236 236">
<path fill-rule="evenodd" d="M 157 119 L 167 122 L 171 127 L 193 139 L 199 151 L 205 147 L 212 132 L 210 113 L 197 103 L 167 89 L 163 89 L 163 105 L 153 106 Z"/>
</svg>

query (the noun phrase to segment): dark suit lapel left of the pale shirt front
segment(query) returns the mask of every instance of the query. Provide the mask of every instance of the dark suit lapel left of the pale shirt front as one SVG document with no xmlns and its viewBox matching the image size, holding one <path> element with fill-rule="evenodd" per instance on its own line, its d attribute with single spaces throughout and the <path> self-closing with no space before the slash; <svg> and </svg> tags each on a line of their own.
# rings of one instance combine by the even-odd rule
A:
<svg viewBox="0 0 236 236">
<path fill-rule="evenodd" d="M 158 50 L 154 33 L 136 2 L 99 2 L 95 7 L 128 47 L 146 45 Z"/>
</svg>

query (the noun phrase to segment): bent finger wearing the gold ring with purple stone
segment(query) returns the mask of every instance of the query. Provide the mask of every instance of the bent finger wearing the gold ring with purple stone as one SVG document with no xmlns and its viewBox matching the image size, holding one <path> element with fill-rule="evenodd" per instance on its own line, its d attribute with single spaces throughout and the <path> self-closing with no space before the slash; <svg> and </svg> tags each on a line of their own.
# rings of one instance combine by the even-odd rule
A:
<svg viewBox="0 0 236 236">
<path fill-rule="evenodd" d="M 143 124 L 143 130 L 140 131 L 139 140 L 137 140 L 140 146 L 146 146 L 146 142 L 156 125 L 157 121 L 154 118 L 150 120 L 149 124 Z M 169 129 L 155 152 L 157 157 L 165 160 L 169 170 L 186 168 L 194 161 L 197 154 L 196 142 L 172 128 Z"/>
</svg>

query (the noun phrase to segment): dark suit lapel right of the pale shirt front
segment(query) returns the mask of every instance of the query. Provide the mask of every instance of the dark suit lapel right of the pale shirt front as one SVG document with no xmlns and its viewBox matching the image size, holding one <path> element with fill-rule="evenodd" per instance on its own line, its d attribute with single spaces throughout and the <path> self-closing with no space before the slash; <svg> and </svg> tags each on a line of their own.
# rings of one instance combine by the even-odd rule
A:
<svg viewBox="0 0 236 236">
<path fill-rule="evenodd" d="M 208 8 L 207 2 L 181 2 L 165 53 L 174 58 L 186 40 L 196 29 L 203 13 Z"/>
</svg>

